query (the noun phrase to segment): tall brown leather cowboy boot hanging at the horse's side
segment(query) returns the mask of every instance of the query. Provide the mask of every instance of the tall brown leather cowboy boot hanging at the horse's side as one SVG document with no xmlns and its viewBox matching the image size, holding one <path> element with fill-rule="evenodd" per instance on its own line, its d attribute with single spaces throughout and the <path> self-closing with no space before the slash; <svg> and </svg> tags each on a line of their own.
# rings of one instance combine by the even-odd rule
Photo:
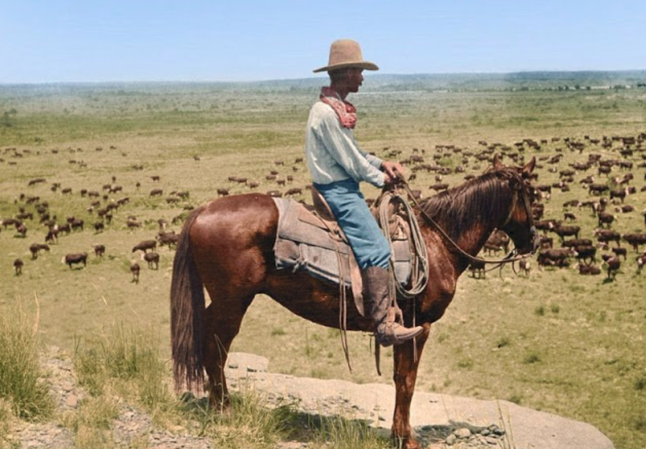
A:
<svg viewBox="0 0 646 449">
<path fill-rule="evenodd" d="M 421 326 L 408 328 L 395 320 L 397 308 L 390 306 L 386 268 L 368 267 L 361 270 L 361 279 L 366 311 L 372 321 L 377 343 L 384 347 L 402 344 L 423 331 Z"/>
</svg>

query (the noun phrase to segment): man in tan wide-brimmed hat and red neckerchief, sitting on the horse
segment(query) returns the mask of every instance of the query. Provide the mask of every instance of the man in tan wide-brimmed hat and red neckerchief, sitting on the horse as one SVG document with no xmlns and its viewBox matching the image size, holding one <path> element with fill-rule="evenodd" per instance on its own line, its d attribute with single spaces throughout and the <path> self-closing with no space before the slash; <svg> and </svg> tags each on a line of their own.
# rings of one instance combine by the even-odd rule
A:
<svg viewBox="0 0 646 449">
<path fill-rule="evenodd" d="M 379 68 L 363 60 L 357 42 L 332 43 L 327 66 L 314 70 L 327 71 L 330 86 L 321 89 L 310 110 L 305 154 L 314 188 L 330 205 L 361 269 L 365 310 L 377 342 L 390 346 L 416 337 L 422 328 L 409 329 L 395 321 L 394 301 L 388 294 L 390 246 L 359 190 L 361 181 L 381 188 L 396 183 L 397 172 L 403 172 L 399 163 L 360 149 L 354 136 L 356 108 L 345 99 L 358 92 L 364 69 Z"/>
</svg>

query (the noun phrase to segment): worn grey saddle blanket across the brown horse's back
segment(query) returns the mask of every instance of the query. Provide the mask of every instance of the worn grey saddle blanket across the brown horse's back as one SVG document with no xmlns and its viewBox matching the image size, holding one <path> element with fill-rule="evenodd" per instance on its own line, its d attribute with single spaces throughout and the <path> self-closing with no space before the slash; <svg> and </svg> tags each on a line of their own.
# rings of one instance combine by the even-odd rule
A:
<svg viewBox="0 0 646 449">
<path fill-rule="evenodd" d="M 351 285 L 350 257 L 354 258 L 345 240 L 333 239 L 325 223 L 305 205 L 286 198 L 273 198 L 279 221 L 274 245 L 276 268 L 292 272 L 304 271 L 313 277 L 339 283 L 339 263 L 343 279 Z M 411 251 L 404 235 L 391 237 L 395 259 L 395 275 L 406 285 L 410 279 Z M 337 253 L 338 249 L 338 253 Z M 356 263 L 353 263 L 356 266 Z"/>
</svg>

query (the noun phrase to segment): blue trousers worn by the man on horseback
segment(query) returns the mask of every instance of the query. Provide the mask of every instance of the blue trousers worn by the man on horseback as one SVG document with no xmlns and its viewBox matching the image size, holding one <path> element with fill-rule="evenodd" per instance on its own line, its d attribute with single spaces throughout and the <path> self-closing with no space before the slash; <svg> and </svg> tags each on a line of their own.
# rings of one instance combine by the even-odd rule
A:
<svg viewBox="0 0 646 449">
<path fill-rule="evenodd" d="M 388 268 L 390 245 L 371 214 L 359 190 L 359 183 L 345 179 L 329 184 L 314 183 L 314 187 L 330 205 L 338 225 L 350 243 L 359 268 Z"/>
</svg>

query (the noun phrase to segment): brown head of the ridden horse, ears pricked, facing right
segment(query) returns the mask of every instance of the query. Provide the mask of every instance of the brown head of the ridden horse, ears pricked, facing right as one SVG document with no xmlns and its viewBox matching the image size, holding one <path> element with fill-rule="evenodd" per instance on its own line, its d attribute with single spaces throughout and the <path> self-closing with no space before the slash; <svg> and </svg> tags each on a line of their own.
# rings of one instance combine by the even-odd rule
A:
<svg viewBox="0 0 646 449">
<path fill-rule="evenodd" d="M 506 167 L 501 164 L 497 156 L 493 162 L 493 170 L 504 171 L 509 187 L 512 189 L 509 215 L 501 229 L 514 241 L 516 251 L 520 254 L 534 253 L 540 240 L 532 215 L 536 190 L 532 186 L 531 175 L 535 166 L 535 157 L 522 167 Z"/>
</svg>

